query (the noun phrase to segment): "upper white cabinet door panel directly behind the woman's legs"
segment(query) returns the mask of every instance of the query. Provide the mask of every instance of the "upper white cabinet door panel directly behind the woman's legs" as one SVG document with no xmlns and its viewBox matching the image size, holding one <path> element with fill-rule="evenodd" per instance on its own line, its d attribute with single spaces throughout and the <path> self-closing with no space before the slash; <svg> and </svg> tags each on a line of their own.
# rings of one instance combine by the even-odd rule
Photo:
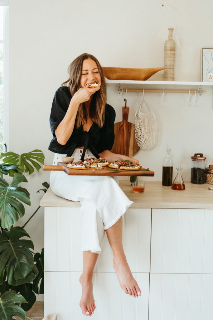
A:
<svg viewBox="0 0 213 320">
<path fill-rule="evenodd" d="M 82 271 L 80 208 L 45 208 L 45 271 Z M 123 245 L 132 272 L 150 269 L 151 209 L 128 209 L 123 217 Z M 95 270 L 114 272 L 105 235 Z"/>
</svg>

